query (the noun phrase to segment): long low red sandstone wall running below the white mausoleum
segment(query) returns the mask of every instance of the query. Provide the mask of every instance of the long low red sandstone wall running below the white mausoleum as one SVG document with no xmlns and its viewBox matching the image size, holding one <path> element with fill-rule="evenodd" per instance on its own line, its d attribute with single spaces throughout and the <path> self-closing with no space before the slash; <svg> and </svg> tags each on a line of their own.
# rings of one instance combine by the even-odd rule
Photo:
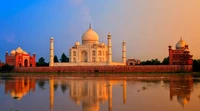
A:
<svg viewBox="0 0 200 111">
<path fill-rule="evenodd" d="M 192 65 L 16 67 L 13 72 L 192 72 Z"/>
</svg>

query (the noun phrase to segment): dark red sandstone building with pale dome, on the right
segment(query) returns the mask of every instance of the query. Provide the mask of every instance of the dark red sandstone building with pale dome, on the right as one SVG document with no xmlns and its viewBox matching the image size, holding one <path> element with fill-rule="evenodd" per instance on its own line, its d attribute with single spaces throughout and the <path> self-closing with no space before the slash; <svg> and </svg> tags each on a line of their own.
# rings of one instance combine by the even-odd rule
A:
<svg viewBox="0 0 200 111">
<path fill-rule="evenodd" d="M 192 65 L 192 57 L 188 45 L 182 38 L 176 44 L 175 50 L 172 49 L 172 46 L 169 46 L 169 65 Z"/>
</svg>

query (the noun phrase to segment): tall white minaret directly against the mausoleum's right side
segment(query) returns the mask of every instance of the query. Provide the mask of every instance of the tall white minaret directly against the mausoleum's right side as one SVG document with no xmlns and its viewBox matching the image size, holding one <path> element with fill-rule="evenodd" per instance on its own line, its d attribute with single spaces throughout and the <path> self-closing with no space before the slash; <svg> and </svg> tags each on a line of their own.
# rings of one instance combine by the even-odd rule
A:
<svg viewBox="0 0 200 111">
<path fill-rule="evenodd" d="M 112 41 L 111 34 L 108 33 L 108 65 L 112 62 Z"/>
</svg>

